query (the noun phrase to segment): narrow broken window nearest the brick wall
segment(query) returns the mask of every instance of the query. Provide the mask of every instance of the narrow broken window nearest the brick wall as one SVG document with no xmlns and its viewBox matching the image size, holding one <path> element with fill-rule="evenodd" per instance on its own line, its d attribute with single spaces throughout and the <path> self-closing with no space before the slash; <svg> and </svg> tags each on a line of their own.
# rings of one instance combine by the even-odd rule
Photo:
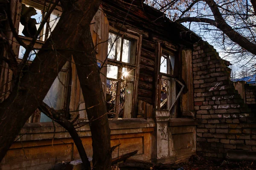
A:
<svg viewBox="0 0 256 170">
<path fill-rule="evenodd" d="M 175 101 L 175 85 L 173 79 L 173 69 L 175 66 L 175 56 L 162 51 L 160 57 L 160 70 L 158 76 L 157 109 L 170 109 Z M 173 109 L 175 111 L 175 109 Z"/>
</svg>

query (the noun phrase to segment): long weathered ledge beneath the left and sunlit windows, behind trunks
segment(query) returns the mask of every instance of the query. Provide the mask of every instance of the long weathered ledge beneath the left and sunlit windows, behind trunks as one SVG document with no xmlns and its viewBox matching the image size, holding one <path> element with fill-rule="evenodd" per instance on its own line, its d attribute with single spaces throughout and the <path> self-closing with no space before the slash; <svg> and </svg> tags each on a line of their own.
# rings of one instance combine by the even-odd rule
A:
<svg viewBox="0 0 256 170">
<path fill-rule="evenodd" d="M 55 128 L 54 128 L 55 125 Z M 20 135 L 17 136 L 17 141 L 32 141 L 52 139 L 55 136 L 56 139 L 70 138 L 69 133 L 64 127 L 52 122 L 41 123 L 26 123 L 20 130 Z M 143 118 L 131 118 L 131 119 L 109 119 L 109 127 L 111 129 L 111 135 L 116 134 L 128 134 L 128 133 L 145 133 L 153 132 L 155 123 L 153 119 Z M 84 125 L 77 129 L 80 137 L 91 136 L 89 124 Z"/>
</svg>

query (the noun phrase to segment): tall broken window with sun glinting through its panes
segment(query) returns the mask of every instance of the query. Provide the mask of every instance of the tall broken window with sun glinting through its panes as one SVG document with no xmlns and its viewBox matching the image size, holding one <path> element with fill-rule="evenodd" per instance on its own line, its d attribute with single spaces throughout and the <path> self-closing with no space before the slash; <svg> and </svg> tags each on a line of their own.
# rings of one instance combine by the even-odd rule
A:
<svg viewBox="0 0 256 170">
<path fill-rule="evenodd" d="M 136 40 L 109 33 L 106 102 L 110 118 L 131 118 Z"/>
</svg>

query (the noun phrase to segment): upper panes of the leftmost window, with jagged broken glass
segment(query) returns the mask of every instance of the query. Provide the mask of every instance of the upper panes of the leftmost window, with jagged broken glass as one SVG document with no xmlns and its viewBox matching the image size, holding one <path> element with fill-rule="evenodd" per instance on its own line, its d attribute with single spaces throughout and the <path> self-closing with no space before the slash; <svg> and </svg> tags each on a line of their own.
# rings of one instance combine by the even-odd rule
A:
<svg viewBox="0 0 256 170">
<path fill-rule="evenodd" d="M 37 3 L 33 3 L 30 0 L 23 0 L 21 10 L 20 10 L 20 23 L 19 23 L 19 32 L 20 38 L 26 44 L 29 44 L 32 38 L 35 36 L 38 28 L 47 14 L 44 12 L 44 9 L 47 7 L 41 6 Z M 61 17 L 61 11 L 53 10 L 50 17 L 47 20 L 47 23 L 44 25 L 40 34 L 38 35 L 37 41 L 35 42 L 35 48 L 41 48 L 44 42 L 49 38 L 51 32 L 58 23 L 58 20 Z M 18 49 L 18 58 L 23 59 L 26 49 L 20 45 Z M 30 61 L 33 61 L 36 57 L 38 50 L 30 51 L 29 57 L 27 58 Z"/>
</svg>

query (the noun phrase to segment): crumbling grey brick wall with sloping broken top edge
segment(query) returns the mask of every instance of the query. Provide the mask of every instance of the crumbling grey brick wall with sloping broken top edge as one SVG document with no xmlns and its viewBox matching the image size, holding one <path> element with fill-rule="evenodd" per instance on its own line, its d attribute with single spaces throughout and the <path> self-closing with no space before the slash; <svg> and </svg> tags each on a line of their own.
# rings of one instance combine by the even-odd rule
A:
<svg viewBox="0 0 256 170">
<path fill-rule="evenodd" d="M 194 44 L 197 153 L 224 158 L 228 150 L 256 150 L 256 123 L 230 81 L 230 70 L 207 42 Z"/>
</svg>

